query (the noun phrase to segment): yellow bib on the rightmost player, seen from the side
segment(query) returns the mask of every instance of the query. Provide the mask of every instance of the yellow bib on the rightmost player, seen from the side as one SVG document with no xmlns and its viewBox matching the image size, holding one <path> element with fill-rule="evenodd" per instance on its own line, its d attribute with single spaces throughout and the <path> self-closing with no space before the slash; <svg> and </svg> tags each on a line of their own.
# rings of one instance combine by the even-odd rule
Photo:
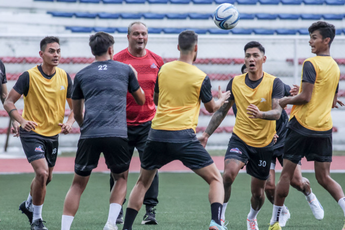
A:
<svg viewBox="0 0 345 230">
<path fill-rule="evenodd" d="M 298 123 L 305 128 L 327 131 L 333 127 L 331 109 L 340 78 L 340 70 L 331 56 L 315 56 L 307 58 L 305 61 L 310 61 L 316 72 L 312 98 L 304 105 L 294 105 L 290 120 L 295 117 Z M 300 85 L 299 93 L 303 90 L 302 79 Z"/>
</svg>

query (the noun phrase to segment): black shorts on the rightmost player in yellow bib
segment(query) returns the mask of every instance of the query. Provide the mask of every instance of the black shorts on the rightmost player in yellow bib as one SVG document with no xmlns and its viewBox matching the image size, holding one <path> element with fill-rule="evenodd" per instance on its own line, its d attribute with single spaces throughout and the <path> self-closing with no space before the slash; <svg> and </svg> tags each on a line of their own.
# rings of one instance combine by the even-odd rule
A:
<svg viewBox="0 0 345 230">
<path fill-rule="evenodd" d="M 308 137 L 289 128 L 284 145 L 284 159 L 298 163 L 307 161 L 332 162 L 332 136 Z"/>
</svg>

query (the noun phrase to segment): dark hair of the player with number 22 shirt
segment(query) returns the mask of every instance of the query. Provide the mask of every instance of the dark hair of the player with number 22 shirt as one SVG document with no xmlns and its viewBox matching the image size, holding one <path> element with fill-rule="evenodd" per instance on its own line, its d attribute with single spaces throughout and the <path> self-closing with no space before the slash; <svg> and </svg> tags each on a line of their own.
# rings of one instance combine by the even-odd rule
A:
<svg viewBox="0 0 345 230">
<path fill-rule="evenodd" d="M 109 47 L 114 45 L 114 38 L 106 32 L 96 32 L 96 34 L 90 36 L 89 46 L 91 52 L 95 56 L 101 56 L 105 54 Z"/>
</svg>

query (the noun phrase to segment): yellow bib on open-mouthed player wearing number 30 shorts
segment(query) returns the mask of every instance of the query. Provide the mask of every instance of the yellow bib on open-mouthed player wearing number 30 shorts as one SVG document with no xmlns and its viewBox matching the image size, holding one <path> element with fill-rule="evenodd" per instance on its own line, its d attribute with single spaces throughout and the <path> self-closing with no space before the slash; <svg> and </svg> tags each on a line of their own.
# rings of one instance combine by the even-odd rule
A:
<svg viewBox="0 0 345 230">
<path fill-rule="evenodd" d="M 232 93 L 235 97 L 237 115 L 233 133 L 252 147 L 265 147 L 272 142 L 275 134 L 275 120 L 252 119 L 247 114 L 250 104 L 260 111 L 272 110 L 272 90 L 274 76 L 264 72 L 261 83 L 254 89 L 245 83 L 246 74 L 234 77 Z"/>
</svg>

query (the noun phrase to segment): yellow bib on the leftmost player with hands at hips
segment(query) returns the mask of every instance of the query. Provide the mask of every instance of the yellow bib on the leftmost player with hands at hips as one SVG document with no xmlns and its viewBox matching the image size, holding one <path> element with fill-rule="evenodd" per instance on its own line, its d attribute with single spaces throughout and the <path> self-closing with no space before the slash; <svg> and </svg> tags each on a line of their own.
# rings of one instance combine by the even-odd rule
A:
<svg viewBox="0 0 345 230">
<path fill-rule="evenodd" d="M 22 117 L 36 122 L 38 126 L 32 131 L 47 137 L 61 132 L 58 123 L 63 123 L 66 105 L 67 74 L 57 67 L 55 71 L 51 79 L 46 79 L 38 67 L 28 70 L 30 86 L 24 96 Z"/>
</svg>

